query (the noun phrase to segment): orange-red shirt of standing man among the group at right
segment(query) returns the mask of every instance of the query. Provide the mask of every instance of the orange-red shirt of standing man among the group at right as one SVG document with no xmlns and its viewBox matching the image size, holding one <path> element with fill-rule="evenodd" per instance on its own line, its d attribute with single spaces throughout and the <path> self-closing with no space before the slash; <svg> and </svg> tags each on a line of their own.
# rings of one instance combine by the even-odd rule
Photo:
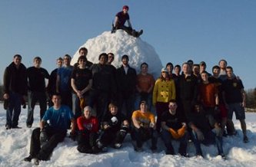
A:
<svg viewBox="0 0 256 167">
<path fill-rule="evenodd" d="M 218 93 L 218 89 L 215 84 L 201 84 L 200 85 L 200 100 L 204 106 L 215 106 L 215 94 Z"/>
</svg>

